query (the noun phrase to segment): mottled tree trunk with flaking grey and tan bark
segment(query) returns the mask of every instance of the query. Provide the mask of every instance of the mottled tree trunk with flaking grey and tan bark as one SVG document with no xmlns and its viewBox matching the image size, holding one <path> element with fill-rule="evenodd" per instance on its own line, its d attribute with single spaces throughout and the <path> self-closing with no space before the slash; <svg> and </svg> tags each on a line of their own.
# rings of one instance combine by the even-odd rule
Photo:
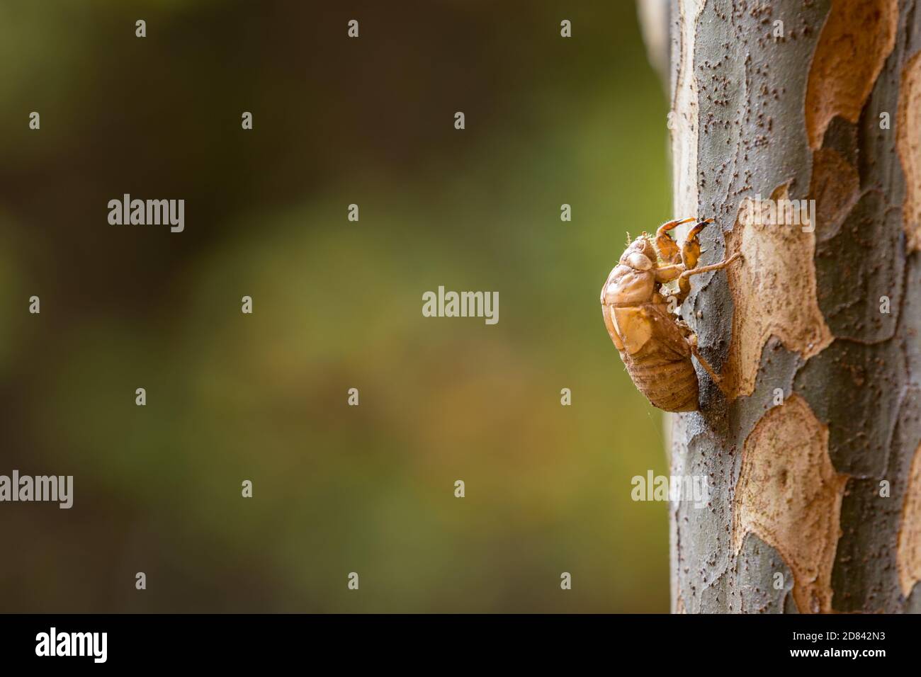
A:
<svg viewBox="0 0 921 677">
<path fill-rule="evenodd" d="M 727 393 L 672 419 L 675 612 L 921 612 L 918 5 L 671 4 L 674 216 L 744 257 L 682 308 Z"/>
</svg>

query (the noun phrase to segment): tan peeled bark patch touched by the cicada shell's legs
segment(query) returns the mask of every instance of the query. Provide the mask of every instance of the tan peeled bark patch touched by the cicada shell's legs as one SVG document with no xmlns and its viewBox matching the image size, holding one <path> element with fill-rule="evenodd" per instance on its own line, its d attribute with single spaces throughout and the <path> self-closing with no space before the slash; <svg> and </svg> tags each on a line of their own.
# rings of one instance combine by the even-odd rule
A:
<svg viewBox="0 0 921 677">
<path fill-rule="evenodd" d="M 788 197 L 785 184 L 771 200 L 781 204 Z M 727 256 L 740 251 L 744 257 L 726 269 L 735 306 L 723 374 L 730 399 L 754 391 L 762 348 L 772 335 L 804 358 L 819 353 L 833 338 L 816 296 L 815 232 L 774 223 L 766 214 L 754 214 L 752 204 L 748 198 L 743 201 L 726 236 Z"/>
</svg>

